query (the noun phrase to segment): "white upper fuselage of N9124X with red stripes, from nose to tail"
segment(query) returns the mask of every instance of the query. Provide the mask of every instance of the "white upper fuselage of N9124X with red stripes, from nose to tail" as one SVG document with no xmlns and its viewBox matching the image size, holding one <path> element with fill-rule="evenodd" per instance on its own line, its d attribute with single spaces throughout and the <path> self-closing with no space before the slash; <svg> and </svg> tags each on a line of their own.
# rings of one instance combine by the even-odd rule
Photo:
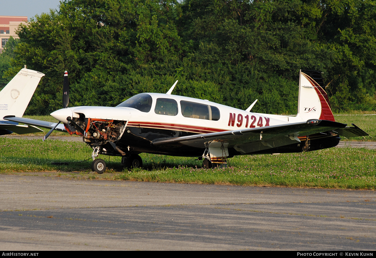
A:
<svg viewBox="0 0 376 258">
<path fill-rule="evenodd" d="M 127 127 L 170 128 L 176 131 L 187 131 L 198 134 L 282 125 L 302 121 L 299 117 L 252 113 L 202 99 L 161 93 L 146 94 L 152 97 L 151 107 L 148 112 L 130 107 L 82 106 L 62 108 L 51 113 L 51 115 L 66 124 L 68 123 L 66 120 L 68 116 L 71 118 L 79 118 L 81 114 L 91 119 L 126 121 Z M 157 99 L 173 99 L 176 101 L 176 113 L 171 115 L 167 114 L 167 112 L 161 113 L 158 111 L 159 107 L 156 106 Z M 209 120 L 208 116 L 205 115 L 184 114 L 185 111 L 182 110 L 182 101 L 218 108 L 219 119 Z"/>
</svg>

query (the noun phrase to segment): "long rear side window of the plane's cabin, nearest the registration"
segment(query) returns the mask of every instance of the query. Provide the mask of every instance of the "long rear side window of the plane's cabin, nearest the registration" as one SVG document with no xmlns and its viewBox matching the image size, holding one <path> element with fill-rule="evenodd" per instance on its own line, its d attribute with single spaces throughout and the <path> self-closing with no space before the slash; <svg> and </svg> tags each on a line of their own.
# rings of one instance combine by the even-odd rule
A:
<svg viewBox="0 0 376 258">
<path fill-rule="evenodd" d="M 190 101 L 180 101 L 182 115 L 186 118 L 198 118 L 218 121 L 220 114 L 216 107 Z"/>
</svg>

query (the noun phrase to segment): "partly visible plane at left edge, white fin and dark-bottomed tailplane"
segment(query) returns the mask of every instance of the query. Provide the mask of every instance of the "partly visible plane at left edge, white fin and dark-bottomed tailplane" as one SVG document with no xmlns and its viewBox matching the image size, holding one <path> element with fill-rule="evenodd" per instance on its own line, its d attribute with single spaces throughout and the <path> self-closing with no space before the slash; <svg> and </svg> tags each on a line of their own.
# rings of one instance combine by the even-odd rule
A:
<svg viewBox="0 0 376 258">
<path fill-rule="evenodd" d="M 37 133 L 43 130 L 33 125 L 18 125 L 2 119 L 4 116 L 23 116 L 43 73 L 23 68 L 0 92 L 0 135 Z"/>
</svg>

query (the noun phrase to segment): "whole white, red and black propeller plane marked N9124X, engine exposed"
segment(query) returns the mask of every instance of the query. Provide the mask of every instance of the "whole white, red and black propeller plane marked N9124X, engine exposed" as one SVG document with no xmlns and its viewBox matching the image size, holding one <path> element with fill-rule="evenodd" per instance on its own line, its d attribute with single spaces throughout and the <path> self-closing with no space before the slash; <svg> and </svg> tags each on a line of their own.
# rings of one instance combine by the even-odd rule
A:
<svg viewBox="0 0 376 258">
<path fill-rule="evenodd" d="M 360 128 L 335 122 L 321 73 L 300 70 L 296 116 L 261 114 L 208 100 L 167 93 L 140 93 L 116 107 L 68 107 L 64 74 L 63 107 L 51 115 L 59 122 L 7 116 L 4 119 L 67 131 L 92 148 L 92 171 L 106 169 L 99 154 L 120 156 L 127 167 L 141 167 L 140 153 L 199 157 L 203 167 L 226 166 L 237 155 L 299 153 L 335 147 L 339 136 L 367 136 Z M 59 125 L 62 122 L 64 128 Z"/>
</svg>

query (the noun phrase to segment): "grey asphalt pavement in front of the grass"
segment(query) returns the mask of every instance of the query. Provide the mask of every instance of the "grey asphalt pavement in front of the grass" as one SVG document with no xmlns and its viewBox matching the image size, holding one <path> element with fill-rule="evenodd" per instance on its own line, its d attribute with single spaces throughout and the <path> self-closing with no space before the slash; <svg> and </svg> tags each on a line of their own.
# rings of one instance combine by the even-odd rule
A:
<svg viewBox="0 0 376 258">
<path fill-rule="evenodd" d="M 0 250 L 373 251 L 375 202 L 374 191 L 0 175 Z"/>
</svg>

